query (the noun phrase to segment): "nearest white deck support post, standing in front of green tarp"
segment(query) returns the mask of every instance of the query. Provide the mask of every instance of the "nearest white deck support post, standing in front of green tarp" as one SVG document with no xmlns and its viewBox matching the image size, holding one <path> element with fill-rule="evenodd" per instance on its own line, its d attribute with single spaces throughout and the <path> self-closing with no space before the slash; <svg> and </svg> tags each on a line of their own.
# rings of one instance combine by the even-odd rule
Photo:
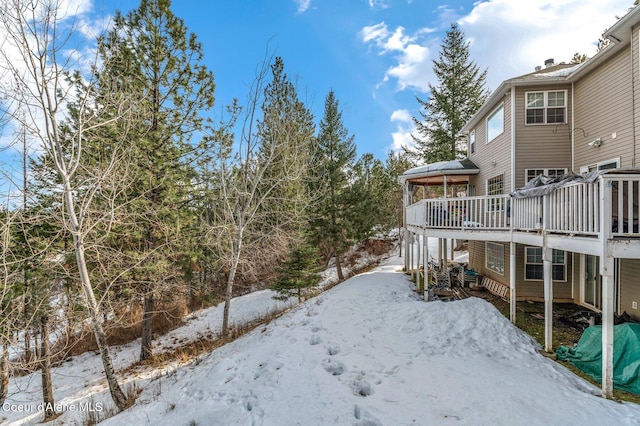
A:
<svg viewBox="0 0 640 426">
<path fill-rule="evenodd" d="M 613 311 L 614 259 L 600 258 L 602 275 L 602 396 L 613 397 Z"/>
</svg>

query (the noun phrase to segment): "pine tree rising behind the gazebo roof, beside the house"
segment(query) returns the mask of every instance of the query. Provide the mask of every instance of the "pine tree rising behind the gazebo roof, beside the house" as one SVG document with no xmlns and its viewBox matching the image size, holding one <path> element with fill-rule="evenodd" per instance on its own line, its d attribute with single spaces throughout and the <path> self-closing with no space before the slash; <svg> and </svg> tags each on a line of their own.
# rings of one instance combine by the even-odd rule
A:
<svg viewBox="0 0 640 426">
<path fill-rule="evenodd" d="M 440 45 L 433 72 L 438 85 L 429 83 L 430 97 L 422 100 L 420 117 L 413 117 L 419 136 L 412 135 L 415 148 L 409 150 L 413 158 L 427 163 L 454 160 L 466 155 L 460 143 L 460 130 L 485 102 L 487 71 L 480 71 L 470 60 L 469 42 L 457 24 L 451 24 Z"/>
</svg>

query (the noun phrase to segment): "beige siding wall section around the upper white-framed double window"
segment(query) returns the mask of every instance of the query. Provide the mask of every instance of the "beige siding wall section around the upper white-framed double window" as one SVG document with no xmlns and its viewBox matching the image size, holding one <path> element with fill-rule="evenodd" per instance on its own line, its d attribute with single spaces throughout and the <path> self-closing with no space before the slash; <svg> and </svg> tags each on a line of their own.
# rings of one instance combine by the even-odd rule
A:
<svg viewBox="0 0 640 426">
<path fill-rule="evenodd" d="M 525 123 L 526 93 L 566 91 L 566 117 L 569 124 Z M 515 187 L 524 186 L 526 169 L 571 170 L 571 86 L 518 87 L 515 97 L 514 126 L 516 134 Z"/>
</svg>

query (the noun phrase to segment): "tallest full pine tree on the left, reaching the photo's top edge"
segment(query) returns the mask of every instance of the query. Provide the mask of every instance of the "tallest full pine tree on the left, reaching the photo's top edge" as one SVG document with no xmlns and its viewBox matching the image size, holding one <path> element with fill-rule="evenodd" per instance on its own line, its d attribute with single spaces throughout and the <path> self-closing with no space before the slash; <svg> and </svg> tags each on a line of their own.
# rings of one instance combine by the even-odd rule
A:
<svg viewBox="0 0 640 426">
<path fill-rule="evenodd" d="M 110 66 L 103 78 L 133 92 L 136 115 L 130 126 L 131 220 L 114 241 L 132 255 L 128 279 L 142 294 L 140 359 L 152 356 L 152 317 L 156 301 L 179 282 L 181 234 L 193 220 L 189 202 L 193 170 L 189 154 L 194 134 L 214 104 L 213 74 L 202 64 L 202 46 L 170 9 L 169 0 L 142 0 L 126 16 L 116 14 L 102 44 Z"/>
</svg>

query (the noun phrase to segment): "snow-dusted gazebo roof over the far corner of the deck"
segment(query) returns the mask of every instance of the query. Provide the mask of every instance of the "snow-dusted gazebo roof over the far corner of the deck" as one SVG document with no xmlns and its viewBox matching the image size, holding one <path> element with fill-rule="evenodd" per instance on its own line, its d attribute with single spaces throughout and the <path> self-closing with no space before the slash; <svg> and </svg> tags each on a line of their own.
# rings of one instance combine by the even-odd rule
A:
<svg viewBox="0 0 640 426">
<path fill-rule="evenodd" d="M 407 170 L 398 177 L 400 183 L 414 185 L 449 185 L 469 183 L 469 176 L 477 175 L 480 169 L 468 158 L 462 160 L 439 161 Z"/>
</svg>

